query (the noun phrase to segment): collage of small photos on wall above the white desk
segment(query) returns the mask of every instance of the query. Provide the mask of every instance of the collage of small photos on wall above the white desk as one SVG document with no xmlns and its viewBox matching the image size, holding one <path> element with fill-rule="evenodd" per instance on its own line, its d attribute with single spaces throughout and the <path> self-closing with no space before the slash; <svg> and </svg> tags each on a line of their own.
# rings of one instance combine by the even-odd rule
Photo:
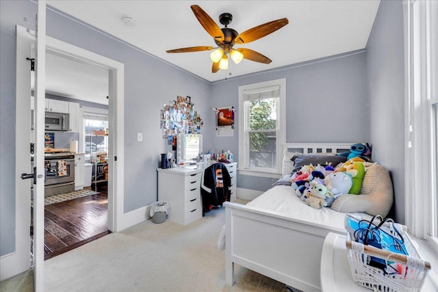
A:
<svg viewBox="0 0 438 292">
<path fill-rule="evenodd" d="M 190 96 L 177 96 L 161 110 L 160 127 L 163 139 L 176 146 L 178 134 L 200 134 L 203 120 L 194 109 Z"/>
</svg>

